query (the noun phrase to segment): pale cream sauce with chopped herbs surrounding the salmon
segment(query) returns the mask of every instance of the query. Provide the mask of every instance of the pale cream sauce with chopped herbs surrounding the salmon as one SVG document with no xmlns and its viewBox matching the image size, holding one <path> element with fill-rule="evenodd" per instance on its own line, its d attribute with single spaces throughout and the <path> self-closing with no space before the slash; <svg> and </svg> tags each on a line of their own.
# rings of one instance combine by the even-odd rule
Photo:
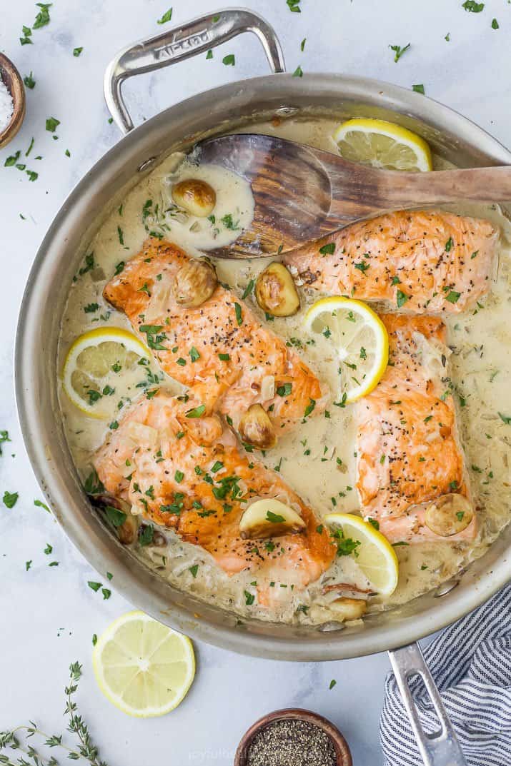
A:
<svg viewBox="0 0 511 766">
<path fill-rule="evenodd" d="M 290 119 L 278 126 L 263 123 L 250 126 L 247 130 L 274 134 L 335 152 L 335 142 L 331 139 L 335 126 L 334 122 L 326 119 Z M 437 167 L 446 165 L 440 159 L 436 162 Z M 214 211 L 214 223 L 205 219 L 184 219 L 173 208 L 170 197 L 172 183 L 190 175 L 203 178 L 216 189 L 218 202 Z M 151 201 L 150 206 L 147 205 L 148 200 Z M 397 590 L 384 603 L 378 599 L 371 601 L 369 611 L 404 603 L 436 587 L 456 574 L 467 562 L 482 555 L 509 521 L 511 427 L 503 422 L 498 413 L 511 415 L 511 224 L 496 205 L 445 207 L 463 214 L 489 218 L 502 231 L 499 269 L 491 293 L 475 309 L 447 319 L 448 342 L 453 351 L 450 355 L 450 374 L 460 404 L 460 432 L 481 532 L 472 545 L 429 542 L 396 548 L 400 560 Z M 229 225 L 218 224 L 224 216 L 230 214 L 227 223 L 234 221 L 242 228 L 251 220 L 252 212 L 252 195 L 248 185 L 241 179 L 219 168 L 197 169 L 187 162 L 183 165 L 183 155 L 170 155 L 127 194 L 123 205 L 109 214 L 91 242 L 90 250 L 94 251 L 97 267 L 79 277 L 71 288 L 61 326 L 61 365 L 71 342 L 87 329 L 97 326 L 130 329 L 124 315 L 112 311 L 101 293 L 116 265 L 140 250 L 148 231 L 163 234 L 190 253 L 199 254 L 198 248 L 204 250 L 229 244 L 229 241 L 236 238 L 237 231 L 232 231 Z M 249 280 L 268 262 L 269 259 L 217 260 L 216 269 L 219 279 L 229 283 L 241 296 Z M 305 309 L 315 298 L 317 295 L 308 296 L 302 290 L 302 308 L 298 314 L 287 319 L 275 318 L 270 327 L 292 345 L 298 344 L 297 350 L 305 361 L 321 379 L 335 388 L 338 365 L 337 360 L 332 358 L 331 347 L 322 342 L 321 337 L 315 344 L 308 344 L 308 336 L 305 336 L 302 329 Z M 259 313 L 262 322 L 265 322 L 253 295 L 246 300 Z M 84 306 L 90 303 L 98 303 L 99 309 L 94 315 L 84 313 Z M 180 385 L 157 368 L 156 362 L 151 362 L 150 370 L 153 375 L 160 375 L 164 385 L 168 385 L 172 391 L 182 391 Z M 147 371 L 141 369 L 140 380 L 146 374 Z M 140 381 L 136 378 L 136 375 L 131 378 L 119 375 L 115 397 L 117 401 L 130 401 L 137 391 L 143 390 L 137 388 Z M 332 391 L 332 397 L 336 398 L 337 393 Z M 82 413 L 71 404 L 64 391 L 60 392 L 60 401 L 71 453 L 77 469 L 85 476 L 90 469 L 91 454 L 107 434 L 108 421 L 96 420 Z M 122 414 L 122 410 L 119 412 Z M 310 503 L 318 516 L 334 509 L 340 512 L 357 512 L 359 509 L 354 489 L 355 432 L 352 410 L 349 407 L 330 407 L 328 413 L 330 417 L 321 415 L 309 418 L 299 428 L 285 434 L 277 447 L 261 458 L 267 466 L 276 467 L 280 471 L 290 486 Z M 179 588 L 240 614 L 285 621 L 325 621 L 331 618 L 328 609 L 318 610 L 314 607 L 307 614 L 304 611 L 297 613 L 296 609 L 302 604 L 308 607 L 314 604 L 326 606 L 329 597 L 321 595 L 321 588 L 330 578 L 332 581 L 348 580 L 358 587 L 368 584 L 356 560 L 344 556 L 338 558 L 321 581 L 312 584 L 307 591 L 296 594 L 282 589 L 272 610 L 262 611 L 255 605 L 246 607 L 242 597 L 244 590 L 253 591 L 250 585 L 253 573 L 228 578 L 201 548 L 181 542 L 173 533 L 168 537 L 170 542 L 165 548 L 141 548 L 140 556 L 146 561 L 152 561 L 161 574 Z M 193 577 L 190 566 L 196 563 L 199 569 L 196 577 Z"/>
</svg>

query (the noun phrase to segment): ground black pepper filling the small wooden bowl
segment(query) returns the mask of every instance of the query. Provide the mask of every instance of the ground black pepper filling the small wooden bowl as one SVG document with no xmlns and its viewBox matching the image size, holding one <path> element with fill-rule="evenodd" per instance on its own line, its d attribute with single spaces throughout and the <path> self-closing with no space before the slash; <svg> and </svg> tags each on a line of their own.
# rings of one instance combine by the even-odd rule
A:
<svg viewBox="0 0 511 766">
<path fill-rule="evenodd" d="M 319 726 L 300 719 L 275 721 L 252 739 L 246 766 L 335 766 L 335 748 Z"/>
</svg>

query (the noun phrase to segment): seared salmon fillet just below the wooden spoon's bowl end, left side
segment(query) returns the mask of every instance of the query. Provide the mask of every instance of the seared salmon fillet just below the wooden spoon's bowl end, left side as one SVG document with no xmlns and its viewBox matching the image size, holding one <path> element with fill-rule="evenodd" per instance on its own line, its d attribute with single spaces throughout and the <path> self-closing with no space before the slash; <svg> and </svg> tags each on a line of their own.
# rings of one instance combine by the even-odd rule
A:
<svg viewBox="0 0 511 766">
<path fill-rule="evenodd" d="M 255 403 L 277 429 L 323 411 L 326 388 L 225 286 L 218 284 L 196 308 L 176 303 L 173 280 L 189 260 L 176 245 L 152 237 L 107 283 L 104 297 L 127 315 L 163 370 L 193 387 L 194 403 L 228 415 L 235 428 Z"/>
</svg>

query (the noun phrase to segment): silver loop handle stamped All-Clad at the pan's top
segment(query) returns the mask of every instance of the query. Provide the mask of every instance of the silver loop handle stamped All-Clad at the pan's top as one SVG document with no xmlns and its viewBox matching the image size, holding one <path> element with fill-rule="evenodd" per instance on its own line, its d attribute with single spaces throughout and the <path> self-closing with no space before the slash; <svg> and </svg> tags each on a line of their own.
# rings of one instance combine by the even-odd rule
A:
<svg viewBox="0 0 511 766">
<path fill-rule="evenodd" d="M 184 61 L 243 32 L 253 32 L 259 38 L 274 73 L 285 72 L 279 38 L 261 16 L 244 8 L 226 8 L 200 16 L 182 27 L 140 40 L 119 51 L 110 61 L 104 74 L 104 97 L 116 125 L 123 133 L 129 133 L 134 127 L 121 93 L 127 77 Z"/>
</svg>

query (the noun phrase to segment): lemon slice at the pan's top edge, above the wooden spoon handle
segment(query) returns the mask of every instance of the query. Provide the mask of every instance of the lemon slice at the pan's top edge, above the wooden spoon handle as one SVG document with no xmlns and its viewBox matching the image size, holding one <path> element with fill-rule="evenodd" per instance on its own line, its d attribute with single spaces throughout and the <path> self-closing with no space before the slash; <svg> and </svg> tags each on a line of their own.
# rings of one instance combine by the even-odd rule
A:
<svg viewBox="0 0 511 766">
<path fill-rule="evenodd" d="M 410 172 L 433 169 L 424 139 L 384 119 L 348 119 L 338 126 L 333 139 L 341 155 L 351 162 Z"/>
</svg>

